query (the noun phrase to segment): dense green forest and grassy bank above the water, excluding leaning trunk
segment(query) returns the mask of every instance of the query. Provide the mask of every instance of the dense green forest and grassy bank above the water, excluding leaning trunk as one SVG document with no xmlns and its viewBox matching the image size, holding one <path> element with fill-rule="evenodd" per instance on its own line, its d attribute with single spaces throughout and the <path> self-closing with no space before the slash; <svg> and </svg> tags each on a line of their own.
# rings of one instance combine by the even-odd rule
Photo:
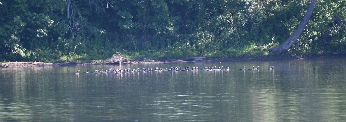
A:
<svg viewBox="0 0 346 122">
<path fill-rule="evenodd" d="M 0 0 L 0 62 L 346 54 L 346 0 Z M 151 51 L 149 51 L 151 50 Z M 154 50 L 154 51 L 153 51 Z"/>
</svg>

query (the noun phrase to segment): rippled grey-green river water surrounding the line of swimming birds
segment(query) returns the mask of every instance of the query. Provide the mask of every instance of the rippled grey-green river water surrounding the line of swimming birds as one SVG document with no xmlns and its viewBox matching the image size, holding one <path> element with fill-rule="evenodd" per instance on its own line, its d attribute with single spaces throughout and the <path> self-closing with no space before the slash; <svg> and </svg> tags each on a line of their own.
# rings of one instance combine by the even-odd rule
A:
<svg viewBox="0 0 346 122">
<path fill-rule="evenodd" d="M 344 121 L 346 59 L 0 69 L 0 122 Z M 260 65 L 259 71 L 239 71 Z M 274 70 L 266 70 L 275 65 Z M 80 73 L 224 66 L 230 71 Z"/>
</svg>

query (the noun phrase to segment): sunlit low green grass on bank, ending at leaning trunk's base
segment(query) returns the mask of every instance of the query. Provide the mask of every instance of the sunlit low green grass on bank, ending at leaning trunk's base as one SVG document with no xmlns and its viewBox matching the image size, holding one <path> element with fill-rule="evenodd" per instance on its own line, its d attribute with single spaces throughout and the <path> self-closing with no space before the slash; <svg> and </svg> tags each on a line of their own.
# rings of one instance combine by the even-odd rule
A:
<svg viewBox="0 0 346 122">
<path fill-rule="evenodd" d="M 142 58 L 150 60 L 174 60 L 174 59 L 186 59 L 197 56 L 206 56 L 208 59 L 224 59 L 224 58 L 239 58 L 239 57 L 269 57 L 271 54 L 269 51 L 263 49 L 263 47 L 256 45 L 249 45 L 242 49 L 224 49 L 215 51 L 197 51 L 191 49 L 179 49 L 179 48 L 166 48 L 161 50 L 145 50 L 145 51 L 117 51 L 121 53 L 122 57 L 126 57 L 130 61 L 141 60 Z M 109 61 L 113 53 L 102 53 L 94 55 L 83 55 L 66 57 L 57 61 L 66 62 L 92 62 L 92 61 Z M 75 59 L 73 59 L 76 57 Z"/>
</svg>

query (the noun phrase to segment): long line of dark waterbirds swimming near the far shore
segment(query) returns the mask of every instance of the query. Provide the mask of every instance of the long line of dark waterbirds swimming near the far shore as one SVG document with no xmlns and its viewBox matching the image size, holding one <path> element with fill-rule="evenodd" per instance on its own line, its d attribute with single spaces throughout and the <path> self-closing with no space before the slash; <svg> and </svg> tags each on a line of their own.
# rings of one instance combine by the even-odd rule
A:
<svg viewBox="0 0 346 122">
<path fill-rule="evenodd" d="M 253 66 L 253 68 L 251 69 L 248 69 L 248 70 L 260 70 L 258 69 L 258 67 L 260 66 L 257 66 L 257 68 L 255 68 L 255 66 Z M 178 67 L 171 67 L 171 69 L 163 69 L 163 68 L 143 68 L 142 70 L 139 70 L 140 68 L 137 68 L 137 69 L 131 69 L 131 68 L 128 68 L 128 69 L 115 69 L 115 70 L 112 70 L 111 69 L 108 69 L 106 71 L 103 71 L 103 69 L 100 71 L 100 70 L 95 70 L 94 72 L 89 72 L 89 70 L 83 72 L 83 73 L 95 73 L 95 74 L 100 74 L 100 73 L 127 73 L 127 72 L 157 72 L 157 71 L 198 71 L 198 70 L 202 70 L 202 71 L 229 71 L 229 67 L 225 68 L 225 69 L 222 69 L 223 67 L 219 67 L 219 68 L 216 68 L 215 67 L 204 67 L 203 69 L 198 69 L 198 67 L 186 67 L 186 68 L 178 68 Z M 245 67 L 244 69 L 239 69 L 239 70 L 243 70 L 245 71 Z M 271 67 L 271 68 L 268 68 L 267 70 L 274 70 L 274 65 Z M 73 73 L 73 74 L 79 74 L 79 71 L 77 71 L 77 73 Z"/>
</svg>

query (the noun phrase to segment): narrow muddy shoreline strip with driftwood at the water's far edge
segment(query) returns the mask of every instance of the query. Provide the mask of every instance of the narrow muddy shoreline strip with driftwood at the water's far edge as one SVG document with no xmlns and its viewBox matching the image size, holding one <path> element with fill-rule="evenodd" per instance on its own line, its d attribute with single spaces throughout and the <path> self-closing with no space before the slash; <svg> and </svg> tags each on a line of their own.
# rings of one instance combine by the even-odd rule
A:
<svg viewBox="0 0 346 122">
<path fill-rule="evenodd" d="M 321 57 L 261 57 L 261 58 L 218 58 L 201 60 L 200 62 L 247 62 L 247 61 L 277 61 L 277 60 L 304 60 L 304 59 L 326 59 L 326 58 L 345 58 L 346 56 L 321 56 Z M 172 60 L 137 60 L 130 61 L 128 64 L 160 64 L 160 63 L 176 63 L 176 62 L 198 62 L 184 61 L 182 59 Z M 49 66 L 70 66 L 70 65 L 119 65 L 111 64 L 109 61 L 93 61 L 93 62 L 63 62 L 63 63 L 45 63 L 45 62 L 2 62 L 0 68 L 18 68 L 18 67 L 49 67 Z M 126 64 L 123 64 L 126 65 Z"/>
</svg>

